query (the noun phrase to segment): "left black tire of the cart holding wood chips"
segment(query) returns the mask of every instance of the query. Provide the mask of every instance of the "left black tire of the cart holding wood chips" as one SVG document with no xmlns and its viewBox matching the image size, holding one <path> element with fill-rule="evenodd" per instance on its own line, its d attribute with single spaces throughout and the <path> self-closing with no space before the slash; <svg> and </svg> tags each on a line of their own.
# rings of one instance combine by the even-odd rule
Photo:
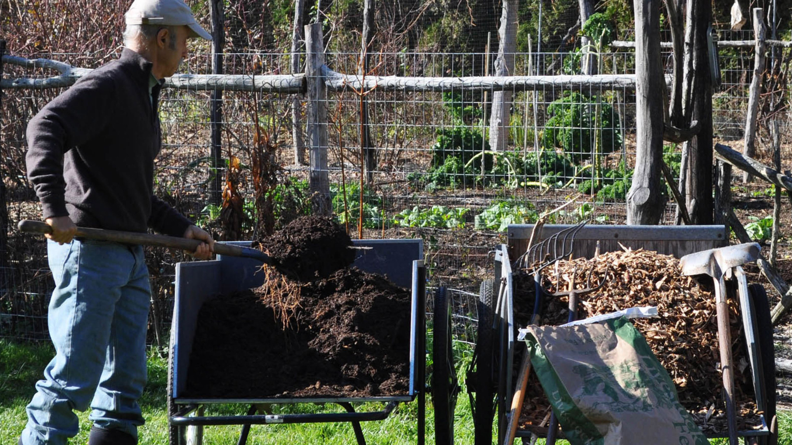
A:
<svg viewBox="0 0 792 445">
<path fill-rule="evenodd" d="M 475 373 L 475 417 L 474 444 L 492 445 L 493 416 L 495 409 L 495 378 L 493 378 L 495 316 L 493 301 L 495 295 L 494 280 L 485 280 L 478 292 L 478 338 L 476 339 L 476 373 Z"/>
</svg>

